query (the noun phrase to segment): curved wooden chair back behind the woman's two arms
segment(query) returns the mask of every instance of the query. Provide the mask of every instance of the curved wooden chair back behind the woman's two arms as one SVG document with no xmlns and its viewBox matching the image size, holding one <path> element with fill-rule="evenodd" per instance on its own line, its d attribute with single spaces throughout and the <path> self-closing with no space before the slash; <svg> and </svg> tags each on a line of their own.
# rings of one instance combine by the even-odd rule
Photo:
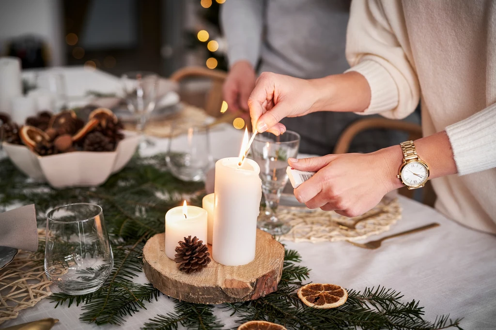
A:
<svg viewBox="0 0 496 330">
<path fill-rule="evenodd" d="M 334 154 L 345 154 L 350 149 L 351 142 L 357 134 L 369 129 L 394 129 L 408 133 L 409 140 L 416 140 L 422 137 L 422 127 L 420 125 L 386 118 L 364 118 L 359 119 L 348 126 L 339 137 Z M 430 181 L 427 181 L 422 190 L 422 203 L 434 206 L 435 193 Z M 408 190 L 407 187 L 400 188 L 399 193 L 408 198 L 413 198 L 414 193 L 418 190 Z"/>
</svg>

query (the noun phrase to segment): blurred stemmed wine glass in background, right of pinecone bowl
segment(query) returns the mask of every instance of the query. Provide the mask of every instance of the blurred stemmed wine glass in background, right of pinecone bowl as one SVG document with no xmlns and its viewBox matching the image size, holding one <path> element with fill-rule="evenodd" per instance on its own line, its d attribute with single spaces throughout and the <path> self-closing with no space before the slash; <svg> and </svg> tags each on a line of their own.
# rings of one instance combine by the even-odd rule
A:
<svg viewBox="0 0 496 330">
<path fill-rule="evenodd" d="M 136 129 L 143 134 L 146 121 L 155 109 L 158 75 L 147 71 L 126 72 L 121 77 L 121 83 L 127 109 L 134 114 L 137 120 Z M 143 142 L 140 144 L 141 149 L 153 144 L 146 138 L 143 139 Z"/>
</svg>

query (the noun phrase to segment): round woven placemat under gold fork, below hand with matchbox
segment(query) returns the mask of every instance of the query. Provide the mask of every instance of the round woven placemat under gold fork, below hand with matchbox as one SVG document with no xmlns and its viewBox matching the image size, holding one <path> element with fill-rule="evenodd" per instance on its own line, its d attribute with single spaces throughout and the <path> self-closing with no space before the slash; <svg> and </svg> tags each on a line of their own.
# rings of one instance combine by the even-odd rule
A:
<svg viewBox="0 0 496 330">
<path fill-rule="evenodd" d="M 401 219 L 401 211 L 398 199 L 387 197 L 372 210 L 356 218 L 346 218 L 320 209 L 314 212 L 282 210 L 278 211 L 278 217 L 287 221 L 292 228 L 281 239 L 313 243 L 360 240 L 389 230 L 391 225 Z M 356 228 L 346 228 L 354 223 L 357 223 Z"/>
</svg>

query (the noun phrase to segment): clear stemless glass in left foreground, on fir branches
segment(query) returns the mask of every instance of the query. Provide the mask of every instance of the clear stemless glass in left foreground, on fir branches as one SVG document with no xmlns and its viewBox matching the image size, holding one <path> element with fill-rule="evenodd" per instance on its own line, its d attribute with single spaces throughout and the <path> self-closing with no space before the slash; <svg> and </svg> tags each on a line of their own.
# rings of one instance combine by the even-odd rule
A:
<svg viewBox="0 0 496 330">
<path fill-rule="evenodd" d="M 45 273 L 71 295 L 94 292 L 114 267 L 100 206 L 77 203 L 58 207 L 47 215 Z"/>
</svg>

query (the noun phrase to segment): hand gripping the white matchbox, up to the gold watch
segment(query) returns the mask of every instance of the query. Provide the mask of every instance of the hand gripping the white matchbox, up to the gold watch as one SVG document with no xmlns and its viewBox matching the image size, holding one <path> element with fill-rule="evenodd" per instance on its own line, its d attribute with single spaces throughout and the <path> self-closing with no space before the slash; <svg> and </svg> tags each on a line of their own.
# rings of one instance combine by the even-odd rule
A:
<svg viewBox="0 0 496 330">
<path fill-rule="evenodd" d="M 370 154 L 290 159 L 293 168 L 317 171 L 295 189 L 295 197 L 310 209 L 336 211 L 345 217 L 360 216 L 376 206 L 386 193 L 401 187 L 396 178 L 402 155 L 398 149 L 396 146 Z"/>
</svg>

